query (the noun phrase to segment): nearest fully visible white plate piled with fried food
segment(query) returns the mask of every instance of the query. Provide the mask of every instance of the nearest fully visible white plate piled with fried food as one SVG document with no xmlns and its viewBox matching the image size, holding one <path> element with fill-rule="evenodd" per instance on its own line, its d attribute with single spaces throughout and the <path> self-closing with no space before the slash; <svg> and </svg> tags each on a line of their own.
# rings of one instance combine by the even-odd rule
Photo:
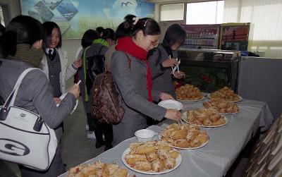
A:
<svg viewBox="0 0 282 177">
<path fill-rule="evenodd" d="M 177 169 L 182 158 L 176 151 L 162 141 L 135 142 L 125 149 L 122 155 L 125 166 L 144 174 L 163 174 Z"/>
</svg>

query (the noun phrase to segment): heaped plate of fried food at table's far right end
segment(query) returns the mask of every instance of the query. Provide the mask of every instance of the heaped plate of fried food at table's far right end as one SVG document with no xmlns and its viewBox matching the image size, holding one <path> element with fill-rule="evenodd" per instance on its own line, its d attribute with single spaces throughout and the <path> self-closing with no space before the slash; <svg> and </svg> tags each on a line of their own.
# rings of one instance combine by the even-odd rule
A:
<svg viewBox="0 0 282 177">
<path fill-rule="evenodd" d="M 224 99 L 231 102 L 240 102 L 243 98 L 235 94 L 233 90 L 228 87 L 223 87 L 216 92 L 207 95 L 209 99 Z"/>
</svg>

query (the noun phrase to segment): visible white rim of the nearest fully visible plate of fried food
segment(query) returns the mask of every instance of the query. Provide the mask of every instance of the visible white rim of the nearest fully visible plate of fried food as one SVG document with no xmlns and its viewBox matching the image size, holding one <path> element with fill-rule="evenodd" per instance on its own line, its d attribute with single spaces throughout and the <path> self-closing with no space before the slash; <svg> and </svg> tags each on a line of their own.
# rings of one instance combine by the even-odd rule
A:
<svg viewBox="0 0 282 177">
<path fill-rule="evenodd" d="M 138 173 L 143 173 L 143 174 L 158 175 L 158 174 L 168 173 L 168 172 L 171 172 L 171 171 L 177 169 L 177 167 L 180 166 L 181 161 L 182 161 L 181 154 L 179 153 L 178 157 L 176 158 L 176 166 L 174 166 L 173 169 L 166 169 L 164 171 L 159 171 L 159 172 L 156 172 L 156 171 L 140 171 L 140 170 L 137 170 L 137 169 L 133 169 L 128 163 L 126 163 L 125 155 L 129 154 L 129 152 L 130 152 L 130 148 L 129 147 L 128 147 L 128 149 L 125 149 L 125 151 L 123 152 L 123 156 L 121 158 L 123 160 L 123 164 L 125 164 L 125 166 L 127 166 L 128 169 L 131 169 L 133 171 L 136 171 Z"/>
</svg>

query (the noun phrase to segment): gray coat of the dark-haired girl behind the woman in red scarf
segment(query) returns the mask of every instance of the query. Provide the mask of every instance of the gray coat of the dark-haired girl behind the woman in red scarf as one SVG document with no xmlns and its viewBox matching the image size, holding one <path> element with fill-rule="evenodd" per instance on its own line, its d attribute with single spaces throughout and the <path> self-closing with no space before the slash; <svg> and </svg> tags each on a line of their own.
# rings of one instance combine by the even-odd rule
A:
<svg viewBox="0 0 282 177">
<path fill-rule="evenodd" d="M 164 71 L 161 71 L 160 66 L 160 63 L 169 58 L 168 53 L 161 44 L 159 44 L 157 48 L 158 49 L 156 49 L 148 58 L 149 66 L 152 71 L 152 88 L 154 90 L 161 90 L 161 92 L 171 94 L 171 96 L 176 98 L 171 68 L 164 68 Z M 159 57 L 161 58 L 159 59 Z M 173 51 L 173 56 L 171 56 L 171 58 L 176 59 L 177 57 L 177 51 Z"/>
</svg>

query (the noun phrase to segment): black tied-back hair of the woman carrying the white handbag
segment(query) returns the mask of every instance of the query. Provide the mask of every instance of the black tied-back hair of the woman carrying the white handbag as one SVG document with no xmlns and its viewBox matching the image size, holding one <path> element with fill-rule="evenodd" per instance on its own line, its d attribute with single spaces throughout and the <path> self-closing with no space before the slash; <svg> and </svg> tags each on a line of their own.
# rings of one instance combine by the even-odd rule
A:
<svg viewBox="0 0 282 177">
<path fill-rule="evenodd" d="M 32 44 L 44 38 L 42 23 L 30 16 L 16 16 L 1 35 L 1 52 L 6 58 L 16 54 L 17 44 Z"/>
</svg>

